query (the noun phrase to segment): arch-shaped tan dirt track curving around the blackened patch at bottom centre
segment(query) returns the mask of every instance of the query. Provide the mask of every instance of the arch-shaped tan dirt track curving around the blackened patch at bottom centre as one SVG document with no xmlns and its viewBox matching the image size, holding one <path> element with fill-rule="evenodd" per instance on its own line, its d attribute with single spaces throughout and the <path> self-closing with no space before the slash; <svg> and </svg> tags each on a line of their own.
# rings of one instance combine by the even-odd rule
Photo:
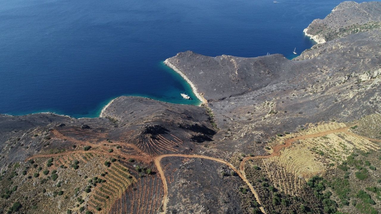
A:
<svg viewBox="0 0 381 214">
<path fill-rule="evenodd" d="M 217 161 L 219 163 L 223 163 L 225 164 L 226 166 L 229 166 L 231 169 L 234 170 L 235 173 L 237 173 L 241 179 L 243 181 L 246 182 L 246 184 L 249 186 L 251 192 L 254 194 L 255 196 L 255 199 L 257 200 L 258 204 L 260 205 L 259 206 L 259 209 L 261 209 L 261 211 L 263 213 L 266 213 L 263 209 L 263 206 L 261 204 L 261 202 L 259 201 L 259 197 L 258 197 L 258 194 L 255 192 L 253 186 L 250 184 L 250 182 L 246 179 L 246 176 L 243 176 L 241 174 L 241 172 L 239 170 L 237 170 L 231 163 L 227 162 L 227 161 L 224 161 L 224 160 L 221 160 L 221 159 L 218 159 L 218 158 L 212 158 L 212 157 L 208 157 L 208 156 L 203 156 L 203 155 L 181 155 L 181 154 L 168 154 L 168 155 L 159 155 L 155 158 L 155 165 L 156 165 L 156 168 L 157 168 L 157 171 L 158 173 L 160 174 L 160 177 L 162 179 L 162 182 L 163 182 L 163 187 L 164 187 L 164 195 L 163 195 L 163 213 L 165 214 L 166 213 L 166 206 L 167 206 L 167 202 L 168 202 L 168 185 L 166 183 L 166 179 L 165 179 L 165 175 L 164 175 L 164 172 L 163 172 L 163 169 L 162 169 L 162 166 L 160 165 L 160 161 L 163 159 L 163 158 L 166 158 L 166 157 L 183 157 L 183 158 L 203 158 L 203 159 L 208 159 L 208 160 L 213 160 L 213 161 Z"/>
</svg>

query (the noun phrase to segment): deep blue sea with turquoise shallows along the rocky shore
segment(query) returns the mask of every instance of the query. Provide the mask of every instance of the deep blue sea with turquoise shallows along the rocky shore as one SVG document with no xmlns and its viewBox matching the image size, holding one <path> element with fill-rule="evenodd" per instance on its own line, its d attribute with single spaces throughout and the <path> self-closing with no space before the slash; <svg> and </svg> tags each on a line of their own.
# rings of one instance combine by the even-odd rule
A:
<svg viewBox="0 0 381 214">
<path fill-rule="evenodd" d="M 198 104 L 162 61 L 186 50 L 291 58 L 313 45 L 303 29 L 341 2 L 278 1 L 2 0 L 0 113 L 97 117 L 121 95 Z"/>
</svg>

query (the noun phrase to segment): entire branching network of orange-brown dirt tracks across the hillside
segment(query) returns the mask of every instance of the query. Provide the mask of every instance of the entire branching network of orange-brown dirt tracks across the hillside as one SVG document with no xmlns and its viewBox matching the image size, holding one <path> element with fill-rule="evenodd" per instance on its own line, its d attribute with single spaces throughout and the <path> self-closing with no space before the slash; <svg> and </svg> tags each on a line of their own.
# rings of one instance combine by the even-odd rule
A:
<svg viewBox="0 0 381 214">
<path fill-rule="evenodd" d="M 102 155 L 112 155 L 109 152 L 107 152 L 109 147 L 103 146 L 103 144 L 107 144 L 107 145 L 126 145 L 126 146 L 131 147 L 134 150 L 136 150 L 138 152 L 138 155 L 125 154 L 125 153 L 121 152 L 120 150 L 114 151 L 113 154 L 114 155 L 117 154 L 117 155 L 120 155 L 121 157 L 125 157 L 125 158 L 134 158 L 134 159 L 143 161 L 145 163 L 152 163 L 152 161 L 154 161 L 155 166 L 157 168 L 157 172 L 160 175 L 160 178 L 161 178 L 162 183 L 163 183 L 163 188 L 164 188 L 164 195 L 163 195 L 163 202 L 162 202 L 162 205 L 163 205 L 163 212 L 162 212 L 162 214 L 166 214 L 166 207 L 167 207 L 167 202 L 168 202 L 168 185 L 167 185 L 166 177 L 165 177 L 164 171 L 162 169 L 162 166 L 160 164 L 160 161 L 163 158 L 166 158 L 166 157 L 203 158 L 203 159 L 207 159 L 207 160 L 217 161 L 219 163 L 225 164 L 226 166 L 229 166 L 229 168 L 231 168 L 235 173 L 237 173 L 237 175 L 249 186 L 251 192 L 253 193 L 253 195 L 255 196 L 256 201 L 259 204 L 259 209 L 261 209 L 261 211 L 264 214 L 266 214 L 266 212 L 264 211 L 263 206 L 262 206 L 262 204 L 261 204 L 261 202 L 259 200 L 258 194 L 255 192 L 253 186 L 250 184 L 249 180 L 247 180 L 247 178 L 246 178 L 246 175 L 245 175 L 245 162 L 247 160 L 261 159 L 261 158 L 271 158 L 271 157 L 274 157 L 274 156 L 280 156 L 280 150 L 283 149 L 283 148 L 291 146 L 292 142 L 294 142 L 294 141 L 301 140 L 301 139 L 307 139 L 307 138 L 313 138 L 313 137 L 321 137 L 321 136 L 325 136 L 325 135 L 331 134 L 331 133 L 339 133 L 339 132 L 341 132 L 341 133 L 346 133 L 346 134 L 349 134 L 349 135 L 352 135 L 352 136 L 355 136 L 355 137 L 367 139 L 369 141 L 381 142 L 381 140 L 378 140 L 378 139 L 372 139 L 372 138 L 363 137 L 363 136 L 359 136 L 357 134 L 351 133 L 351 132 L 348 131 L 347 127 L 346 128 L 339 128 L 339 129 L 332 129 L 332 130 L 324 131 L 324 132 L 321 132 L 321 133 L 308 134 L 308 135 L 302 135 L 302 136 L 298 136 L 298 137 L 288 138 L 288 139 L 285 140 L 284 144 L 274 146 L 272 148 L 273 152 L 270 155 L 258 155 L 258 156 L 255 156 L 255 157 L 245 157 L 245 158 L 243 158 L 243 160 L 240 163 L 240 170 L 238 170 L 231 163 L 229 163 L 229 162 L 227 162 L 225 160 L 218 159 L 218 158 L 213 158 L 213 157 L 208 157 L 208 156 L 204 156 L 204 155 L 166 154 L 166 155 L 158 155 L 158 156 L 152 157 L 152 156 L 148 155 L 147 153 L 143 152 L 141 149 L 139 149 L 134 144 L 129 144 L 129 143 L 126 143 L 126 142 L 109 143 L 107 141 L 101 142 L 99 144 L 92 144 L 92 143 L 87 142 L 87 141 L 80 141 L 80 140 L 72 138 L 72 137 L 64 136 L 63 134 L 59 133 L 59 131 L 57 131 L 57 130 L 53 130 L 52 132 L 53 132 L 54 136 L 56 138 L 58 138 L 58 139 L 67 139 L 68 141 L 72 141 L 72 142 L 75 142 L 75 143 L 78 143 L 78 144 L 90 145 L 91 147 L 93 147 L 93 149 L 91 149 L 89 151 L 75 150 L 75 151 L 62 152 L 62 153 L 57 153 L 57 154 L 37 154 L 37 155 L 34 155 L 34 156 L 30 157 L 30 158 L 27 158 L 26 160 L 30 160 L 32 158 L 37 158 L 37 157 L 58 157 L 58 156 L 61 156 L 61 155 L 70 155 L 70 154 L 75 154 L 75 153 L 88 153 L 88 152 L 93 152 L 93 153 L 102 154 Z"/>
</svg>

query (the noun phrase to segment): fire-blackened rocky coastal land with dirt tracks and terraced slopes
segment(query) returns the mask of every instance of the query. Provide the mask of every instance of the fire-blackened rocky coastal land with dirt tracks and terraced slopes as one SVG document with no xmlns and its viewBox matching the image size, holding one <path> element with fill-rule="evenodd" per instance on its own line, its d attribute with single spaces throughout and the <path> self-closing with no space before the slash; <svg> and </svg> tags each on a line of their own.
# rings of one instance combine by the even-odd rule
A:
<svg viewBox="0 0 381 214">
<path fill-rule="evenodd" d="M 293 60 L 178 53 L 201 107 L 0 115 L 2 213 L 381 210 L 381 3 L 343 2 Z"/>
</svg>

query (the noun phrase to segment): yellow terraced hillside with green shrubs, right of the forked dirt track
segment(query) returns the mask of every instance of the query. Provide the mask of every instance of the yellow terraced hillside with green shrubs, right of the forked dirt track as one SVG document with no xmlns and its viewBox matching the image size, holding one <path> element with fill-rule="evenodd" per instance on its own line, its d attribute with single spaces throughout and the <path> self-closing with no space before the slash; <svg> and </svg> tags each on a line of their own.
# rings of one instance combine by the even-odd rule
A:
<svg viewBox="0 0 381 214">
<path fill-rule="evenodd" d="M 256 183 L 254 187 L 265 210 L 294 212 L 300 211 L 302 204 L 312 213 L 377 213 L 378 203 L 355 198 L 360 197 L 359 192 L 368 190 L 381 201 L 378 187 L 381 180 L 376 169 L 378 161 L 375 162 L 381 159 L 381 140 L 367 137 L 366 132 L 354 133 L 356 129 L 379 130 L 381 127 L 375 121 L 381 115 L 367 117 L 370 118 L 373 123 L 364 124 L 360 120 L 350 124 L 311 125 L 278 137 L 281 145 L 270 149 L 271 155 L 243 158 L 241 169 Z M 363 158 L 357 158 L 359 155 Z"/>
</svg>

